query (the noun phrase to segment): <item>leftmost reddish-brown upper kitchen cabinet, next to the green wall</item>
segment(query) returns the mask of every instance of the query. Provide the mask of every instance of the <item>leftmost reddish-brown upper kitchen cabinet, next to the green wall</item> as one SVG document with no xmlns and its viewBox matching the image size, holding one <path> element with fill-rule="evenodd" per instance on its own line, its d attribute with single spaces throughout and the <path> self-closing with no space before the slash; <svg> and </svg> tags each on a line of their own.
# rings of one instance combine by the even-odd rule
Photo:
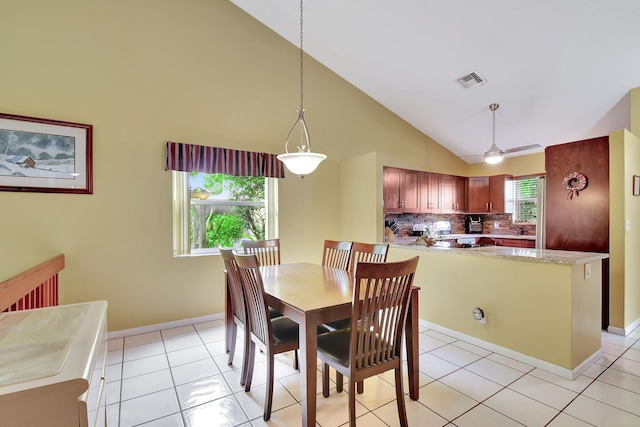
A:
<svg viewBox="0 0 640 427">
<path fill-rule="evenodd" d="M 384 168 L 384 212 L 420 213 L 421 172 Z"/>
</svg>

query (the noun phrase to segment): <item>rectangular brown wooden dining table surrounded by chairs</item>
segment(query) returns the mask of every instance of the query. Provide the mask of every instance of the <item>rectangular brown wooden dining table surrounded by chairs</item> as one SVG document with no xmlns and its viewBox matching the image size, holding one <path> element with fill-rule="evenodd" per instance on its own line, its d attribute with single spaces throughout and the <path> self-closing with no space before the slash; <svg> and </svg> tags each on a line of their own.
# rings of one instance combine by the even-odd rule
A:
<svg viewBox="0 0 640 427">
<path fill-rule="evenodd" d="M 302 425 L 316 426 L 317 326 L 351 317 L 355 276 L 353 272 L 314 263 L 260 267 L 267 304 L 300 326 L 300 390 Z M 405 325 L 409 397 L 418 400 L 418 291 L 411 289 Z M 225 321 L 227 343 L 232 313 L 227 294 Z"/>
</svg>

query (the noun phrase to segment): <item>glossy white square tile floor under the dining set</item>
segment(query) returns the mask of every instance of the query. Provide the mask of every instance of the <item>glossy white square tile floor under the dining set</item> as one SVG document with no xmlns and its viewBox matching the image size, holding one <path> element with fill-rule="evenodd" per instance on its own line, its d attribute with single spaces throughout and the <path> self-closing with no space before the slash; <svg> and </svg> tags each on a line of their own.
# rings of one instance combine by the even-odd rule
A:
<svg viewBox="0 0 640 427">
<path fill-rule="evenodd" d="M 420 399 L 406 399 L 409 425 L 640 426 L 640 328 L 628 337 L 603 333 L 602 348 L 604 357 L 569 381 L 421 328 Z M 110 340 L 108 425 L 300 426 L 292 356 L 276 357 L 273 413 L 265 423 L 264 359 L 257 359 L 252 390 L 245 393 L 241 355 L 227 365 L 222 320 Z M 399 425 L 393 378 L 387 373 L 365 381 L 364 394 L 357 396 L 358 425 Z M 347 423 L 346 392 L 333 389 L 317 402 L 319 426 Z"/>
</svg>

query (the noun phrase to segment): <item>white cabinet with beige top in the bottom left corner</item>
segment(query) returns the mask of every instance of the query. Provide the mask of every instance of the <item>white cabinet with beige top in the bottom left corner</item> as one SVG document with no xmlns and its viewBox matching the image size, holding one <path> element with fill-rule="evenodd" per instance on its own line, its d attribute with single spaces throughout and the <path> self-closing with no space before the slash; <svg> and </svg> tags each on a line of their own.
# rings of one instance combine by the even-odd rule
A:
<svg viewBox="0 0 640 427">
<path fill-rule="evenodd" d="M 0 425 L 106 425 L 106 301 L 0 313 L 0 331 Z"/>
</svg>

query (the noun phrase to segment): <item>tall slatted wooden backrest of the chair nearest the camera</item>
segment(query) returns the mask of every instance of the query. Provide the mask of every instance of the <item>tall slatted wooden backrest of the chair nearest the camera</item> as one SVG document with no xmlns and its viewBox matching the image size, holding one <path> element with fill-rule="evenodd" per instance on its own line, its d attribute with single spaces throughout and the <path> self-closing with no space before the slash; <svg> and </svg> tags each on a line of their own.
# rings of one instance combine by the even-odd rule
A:
<svg viewBox="0 0 640 427">
<path fill-rule="evenodd" d="M 418 259 L 357 264 L 351 319 L 353 369 L 366 369 L 400 358 Z"/>
</svg>

